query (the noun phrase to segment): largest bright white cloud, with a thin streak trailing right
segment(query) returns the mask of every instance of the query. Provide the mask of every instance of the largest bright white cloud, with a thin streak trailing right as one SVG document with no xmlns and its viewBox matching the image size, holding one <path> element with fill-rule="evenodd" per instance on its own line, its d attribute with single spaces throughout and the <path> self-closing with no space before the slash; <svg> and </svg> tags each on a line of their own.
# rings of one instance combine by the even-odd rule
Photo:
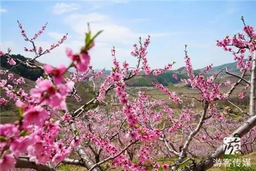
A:
<svg viewBox="0 0 256 171">
<path fill-rule="evenodd" d="M 148 34 L 154 37 L 171 36 L 177 34 L 176 32 L 162 32 L 162 33 L 136 33 L 131 28 L 118 25 L 108 15 L 100 13 L 88 14 L 71 14 L 65 16 L 64 23 L 70 26 L 76 33 L 83 38 L 84 33 L 88 30 L 87 23 L 90 23 L 92 31 L 103 30 L 103 33 L 98 37 L 98 42 L 105 42 L 112 47 L 113 45 L 130 45 L 137 41 L 139 36 L 146 37 Z"/>
</svg>

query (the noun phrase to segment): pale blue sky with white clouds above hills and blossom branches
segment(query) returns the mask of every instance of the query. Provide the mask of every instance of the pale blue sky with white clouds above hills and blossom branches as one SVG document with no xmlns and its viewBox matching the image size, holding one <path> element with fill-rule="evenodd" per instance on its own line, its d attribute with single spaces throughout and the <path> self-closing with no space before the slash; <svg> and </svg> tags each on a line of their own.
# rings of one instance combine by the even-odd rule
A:
<svg viewBox="0 0 256 171">
<path fill-rule="evenodd" d="M 48 22 L 45 34 L 36 41 L 37 46 L 47 49 L 65 33 L 69 34 L 68 40 L 39 61 L 53 66 L 68 65 L 65 49 L 79 51 L 89 22 L 93 32 L 104 30 L 91 52 L 91 65 L 95 69 L 111 68 L 112 46 L 120 61 L 134 65 L 132 46 L 139 36 L 148 34 L 152 36 L 148 61 L 153 68 L 162 68 L 172 61 L 177 62 L 175 69 L 184 66 L 185 44 L 195 69 L 210 63 L 218 66 L 233 59 L 216 46 L 216 40 L 241 31 L 241 16 L 247 24 L 255 26 L 255 7 L 256 2 L 234 1 L 1 1 L 1 49 L 11 47 L 12 53 L 33 57 L 23 50 L 30 45 L 20 35 L 16 20 L 30 36 Z"/>
</svg>

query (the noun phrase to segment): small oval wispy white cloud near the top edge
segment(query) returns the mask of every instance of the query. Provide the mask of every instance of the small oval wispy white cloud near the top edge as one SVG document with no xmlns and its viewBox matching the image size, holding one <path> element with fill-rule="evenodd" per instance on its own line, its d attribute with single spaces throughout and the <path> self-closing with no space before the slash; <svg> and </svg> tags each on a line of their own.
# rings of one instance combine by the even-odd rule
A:
<svg viewBox="0 0 256 171">
<path fill-rule="evenodd" d="M 75 3 L 57 3 L 53 7 L 53 13 L 54 14 L 62 14 L 70 11 L 77 11 L 80 9 L 79 4 Z"/>
</svg>

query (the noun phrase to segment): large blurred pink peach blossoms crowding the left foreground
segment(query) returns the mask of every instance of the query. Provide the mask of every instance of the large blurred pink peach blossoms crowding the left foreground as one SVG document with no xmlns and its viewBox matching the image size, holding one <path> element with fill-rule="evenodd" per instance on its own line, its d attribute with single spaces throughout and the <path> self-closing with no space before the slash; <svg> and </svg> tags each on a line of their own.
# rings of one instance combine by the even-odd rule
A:
<svg viewBox="0 0 256 171">
<path fill-rule="evenodd" d="M 22 30 L 25 40 L 32 42 L 45 30 L 46 26 L 43 26 L 32 39 L 28 38 L 22 24 L 19 24 L 19 28 Z M 62 44 L 66 38 L 64 36 L 57 45 L 53 45 L 46 52 Z M 38 51 L 39 54 L 42 54 L 41 47 Z M 59 111 L 67 110 L 66 98 L 74 87 L 73 81 L 63 82 L 63 74 L 73 66 L 84 72 L 89 68 L 90 56 L 88 52 L 82 51 L 78 55 L 81 58 L 76 57 L 77 55 L 70 50 L 68 52 L 68 57 L 72 59 L 71 65 L 68 68 L 63 65 L 57 68 L 45 65 L 44 71 L 49 76 L 38 78 L 35 88 L 32 88 L 29 94 L 22 88 L 16 90 L 19 85 L 25 83 L 23 77 L 15 78 L 14 74 L 9 73 L 8 81 L 1 79 L 1 89 L 5 90 L 9 100 L 16 101 L 15 105 L 19 111 L 17 122 L 0 125 L 0 164 L 2 170 L 13 168 L 16 159 L 23 153 L 27 153 L 30 161 L 35 161 L 37 164 L 48 162 L 56 164 L 68 157 L 72 149 L 80 144 L 81 140 L 76 135 L 70 136 L 67 140 L 56 140 L 60 132 L 60 121 L 53 119 Z M 9 50 L 8 53 L 10 53 Z M 1 54 L 4 53 L 1 51 Z M 16 65 L 12 58 L 8 58 L 8 63 L 14 67 Z M 7 73 L 8 71 L 1 72 L 1 74 Z M 1 98 L 0 101 L 1 104 L 8 103 L 5 98 Z"/>
</svg>

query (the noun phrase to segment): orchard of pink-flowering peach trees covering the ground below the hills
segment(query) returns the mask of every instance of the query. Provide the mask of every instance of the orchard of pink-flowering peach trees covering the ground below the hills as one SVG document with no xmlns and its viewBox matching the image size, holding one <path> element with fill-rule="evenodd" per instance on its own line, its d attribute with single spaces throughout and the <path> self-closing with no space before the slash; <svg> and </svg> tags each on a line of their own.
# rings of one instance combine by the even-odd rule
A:
<svg viewBox="0 0 256 171">
<path fill-rule="evenodd" d="M 235 134 L 241 137 L 242 153 L 255 150 L 255 81 L 256 81 L 256 32 L 246 25 L 242 17 L 240 33 L 226 36 L 217 41 L 217 46 L 233 55 L 241 74 L 234 74 L 223 68 L 214 75 L 207 74 L 212 66 L 206 66 L 203 73 L 195 74 L 190 61 L 188 46 L 185 46 L 184 60 L 187 79 L 181 79 L 199 96 L 189 96 L 169 91 L 158 82 L 154 86 L 169 97 L 168 103 L 138 92 L 131 96 L 125 82 L 136 76 L 160 75 L 172 69 L 175 62 L 170 61 L 162 69 L 152 69 L 147 60 L 150 36 L 144 41 L 139 38 L 133 45 L 131 57 L 137 59 L 136 66 L 119 61 L 116 49 L 110 51 L 113 60 L 112 72 L 106 76 L 99 89 L 95 79 L 102 77 L 104 70 L 95 71 L 90 66 L 90 50 L 97 46 L 95 35 L 89 31 L 80 52 L 67 49 L 71 59 L 68 67 L 60 65 L 39 66 L 37 58 L 50 53 L 67 39 L 64 35 L 50 48 L 37 47 L 36 39 L 45 31 L 46 25 L 29 37 L 24 27 L 18 27 L 25 41 L 31 47 L 24 50 L 34 57 L 25 61 L 11 57 L 11 49 L 0 51 L 7 57 L 12 67 L 1 70 L 0 87 L 4 96 L 1 105 L 13 103 L 17 109 L 18 120 L 0 125 L 0 164 L 1 170 L 33 168 L 37 170 L 58 170 L 60 165 L 75 165 L 87 170 L 206 170 L 224 154 L 223 139 Z M 106 54 L 108 55 L 108 54 Z M 36 86 L 26 92 L 23 77 L 15 78 L 10 71 L 23 65 L 29 69 L 41 70 L 44 77 L 36 80 Z M 107 66 L 106 66 L 107 67 Z M 76 71 L 65 77 L 69 69 Z M 235 82 L 226 81 L 227 92 L 217 81 L 221 72 L 237 78 Z M 246 77 L 247 76 L 247 77 Z M 89 79 L 85 79 L 88 78 Z M 173 75 L 179 79 L 177 75 Z M 250 77 L 250 79 L 248 79 Z M 66 99 L 80 101 L 77 88 L 88 80 L 94 97 L 76 110 L 67 108 Z M 249 89 L 249 111 L 240 106 L 242 120 L 224 115 L 218 106 L 220 101 L 229 101 L 234 90 L 243 87 L 237 98 L 247 96 Z M 86 93 L 86 92 L 84 92 Z M 112 96 L 115 98 L 106 98 Z M 179 104 L 172 109 L 169 103 Z M 106 108 L 108 106 L 108 108 Z"/>
</svg>

